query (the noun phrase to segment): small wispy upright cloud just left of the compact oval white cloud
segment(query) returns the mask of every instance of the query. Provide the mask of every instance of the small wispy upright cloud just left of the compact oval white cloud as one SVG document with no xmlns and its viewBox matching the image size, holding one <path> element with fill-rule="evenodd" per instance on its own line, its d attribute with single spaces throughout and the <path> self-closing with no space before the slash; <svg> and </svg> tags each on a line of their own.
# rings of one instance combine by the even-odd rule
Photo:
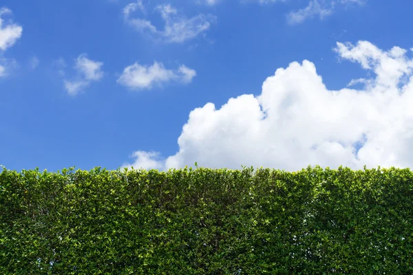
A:
<svg viewBox="0 0 413 275">
<path fill-rule="evenodd" d="M 59 59 L 59 67 L 65 67 L 63 59 Z M 63 80 L 65 89 L 70 96 L 76 96 L 80 91 L 87 88 L 93 81 L 98 81 L 103 78 L 103 71 L 101 67 L 102 62 L 92 61 L 87 58 L 86 54 L 81 54 L 76 58 L 74 69 L 76 69 L 76 79 Z M 59 70 L 59 74 L 64 75 L 63 70 Z"/>
</svg>

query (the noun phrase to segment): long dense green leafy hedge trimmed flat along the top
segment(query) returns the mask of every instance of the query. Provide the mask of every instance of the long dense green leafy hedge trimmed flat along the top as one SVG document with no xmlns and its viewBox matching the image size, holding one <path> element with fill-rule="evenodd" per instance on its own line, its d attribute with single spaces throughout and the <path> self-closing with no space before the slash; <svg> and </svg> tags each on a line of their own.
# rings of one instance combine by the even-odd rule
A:
<svg viewBox="0 0 413 275">
<path fill-rule="evenodd" d="M 409 169 L 3 170 L 0 274 L 412 274 Z"/>
</svg>

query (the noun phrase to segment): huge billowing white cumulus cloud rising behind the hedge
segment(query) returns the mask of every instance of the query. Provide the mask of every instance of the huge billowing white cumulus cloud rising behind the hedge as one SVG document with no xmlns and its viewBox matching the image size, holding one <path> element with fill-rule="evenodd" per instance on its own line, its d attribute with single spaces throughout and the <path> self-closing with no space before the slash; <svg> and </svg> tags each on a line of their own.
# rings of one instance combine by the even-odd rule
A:
<svg viewBox="0 0 413 275">
<path fill-rule="evenodd" d="M 412 167 L 413 59 L 400 47 L 383 51 L 368 41 L 337 43 L 335 51 L 374 75 L 368 85 L 330 91 L 313 63 L 293 62 L 264 81 L 260 96 L 191 111 L 176 155 L 138 151 L 124 166 Z"/>
</svg>

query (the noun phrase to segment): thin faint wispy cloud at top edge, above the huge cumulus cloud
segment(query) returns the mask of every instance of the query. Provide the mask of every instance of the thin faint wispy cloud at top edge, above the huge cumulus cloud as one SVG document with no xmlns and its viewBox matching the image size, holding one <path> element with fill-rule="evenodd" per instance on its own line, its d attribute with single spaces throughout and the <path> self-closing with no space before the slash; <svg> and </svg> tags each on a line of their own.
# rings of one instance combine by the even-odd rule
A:
<svg viewBox="0 0 413 275">
<path fill-rule="evenodd" d="M 307 19 L 319 17 L 320 20 L 331 15 L 337 8 L 348 8 L 350 5 L 363 5 L 367 0 L 310 0 L 306 8 L 301 8 L 287 14 L 290 24 L 303 23 Z"/>
</svg>

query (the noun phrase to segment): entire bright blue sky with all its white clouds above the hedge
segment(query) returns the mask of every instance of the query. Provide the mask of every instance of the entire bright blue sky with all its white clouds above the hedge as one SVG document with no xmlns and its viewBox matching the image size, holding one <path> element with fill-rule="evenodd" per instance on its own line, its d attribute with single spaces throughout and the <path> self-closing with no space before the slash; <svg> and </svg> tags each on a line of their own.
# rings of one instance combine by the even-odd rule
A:
<svg viewBox="0 0 413 275">
<path fill-rule="evenodd" d="M 0 164 L 410 167 L 397 3 L 3 0 Z"/>
</svg>

